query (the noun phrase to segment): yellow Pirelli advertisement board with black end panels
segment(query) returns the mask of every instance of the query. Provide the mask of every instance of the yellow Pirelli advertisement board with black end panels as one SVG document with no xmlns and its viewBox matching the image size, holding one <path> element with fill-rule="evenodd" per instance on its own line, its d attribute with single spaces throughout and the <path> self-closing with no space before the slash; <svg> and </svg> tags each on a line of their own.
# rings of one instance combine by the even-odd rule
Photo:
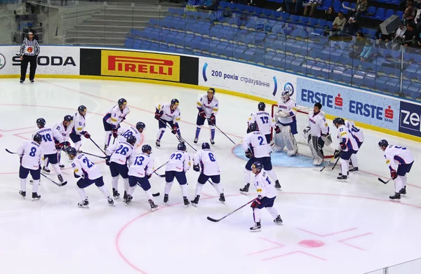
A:
<svg viewBox="0 0 421 274">
<path fill-rule="evenodd" d="M 143 78 L 197 85 L 198 69 L 197 57 L 81 48 L 81 75 Z"/>
</svg>

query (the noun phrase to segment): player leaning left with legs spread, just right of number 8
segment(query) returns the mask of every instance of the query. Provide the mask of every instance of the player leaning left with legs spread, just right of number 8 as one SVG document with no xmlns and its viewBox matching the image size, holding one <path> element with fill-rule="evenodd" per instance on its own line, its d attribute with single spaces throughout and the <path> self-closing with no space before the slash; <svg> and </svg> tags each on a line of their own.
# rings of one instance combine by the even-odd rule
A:
<svg viewBox="0 0 421 274">
<path fill-rule="evenodd" d="M 114 200 L 109 197 L 109 193 L 104 184 L 101 170 L 83 153 L 77 155 L 76 149 L 73 147 L 67 149 L 67 156 L 72 161 L 73 174 L 76 179 L 76 191 L 81 197 L 81 202 L 77 204 L 78 207 L 89 208 L 88 196 L 86 196 L 85 188 L 95 184 L 100 189 L 102 195 L 107 198 L 108 205 L 114 205 Z"/>
</svg>

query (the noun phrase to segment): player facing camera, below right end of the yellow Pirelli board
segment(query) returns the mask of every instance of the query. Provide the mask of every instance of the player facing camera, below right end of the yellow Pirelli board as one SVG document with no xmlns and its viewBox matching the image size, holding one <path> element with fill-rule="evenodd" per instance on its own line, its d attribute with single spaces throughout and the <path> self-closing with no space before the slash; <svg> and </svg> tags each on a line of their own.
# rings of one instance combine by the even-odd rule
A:
<svg viewBox="0 0 421 274">
<path fill-rule="evenodd" d="M 156 146 L 161 146 L 161 138 L 163 132 L 165 132 L 166 124 L 171 126 L 171 133 L 177 136 L 180 143 L 184 143 L 181 138 L 180 127 L 178 121 L 180 121 L 180 109 L 178 108 L 177 99 L 171 100 L 171 104 L 158 104 L 155 110 L 155 119 L 158 120 L 159 130 L 156 135 Z"/>
</svg>

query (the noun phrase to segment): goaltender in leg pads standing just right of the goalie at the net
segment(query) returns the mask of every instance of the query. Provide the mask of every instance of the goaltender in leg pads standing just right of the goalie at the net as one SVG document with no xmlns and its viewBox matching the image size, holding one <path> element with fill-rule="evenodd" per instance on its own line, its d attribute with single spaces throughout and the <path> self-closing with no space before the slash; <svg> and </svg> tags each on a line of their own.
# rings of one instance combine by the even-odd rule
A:
<svg viewBox="0 0 421 274">
<path fill-rule="evenodd" d="M 329 134 L 329 126 L 326 123 L 324 114 L 321 112 L 321 104 L 314 104 L 312 111 L 309 111 L 309 126 L 303 131 L 305 138 L 312 151 L 313 165 L 323 163 L 323 146 L 332 144 L 332 138 Z"/>
</svg>

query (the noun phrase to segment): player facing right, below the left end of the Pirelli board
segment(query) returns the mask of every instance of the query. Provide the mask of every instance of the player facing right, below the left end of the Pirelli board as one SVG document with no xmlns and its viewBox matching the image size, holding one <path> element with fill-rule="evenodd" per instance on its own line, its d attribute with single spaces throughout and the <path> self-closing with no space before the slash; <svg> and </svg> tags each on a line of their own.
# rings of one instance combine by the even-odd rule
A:
<svg viewBox="0 0 421 274">
<path fill-rule="evenodd" d="M 130 109 L 127 107 L 127 101 L 124 98 L 119 99 L 116 105 L 107 111 L 104 118 L 102 118 L 102 123 L 104 123 L 105 130 L 105 145 L 104 150 L 109 146 L 111 140 L 111 135 L 118 137 L 117 131 L 120 128 L 120 123 L 126 120 L 127 114 L 129 114 Z"/>
</svg>

